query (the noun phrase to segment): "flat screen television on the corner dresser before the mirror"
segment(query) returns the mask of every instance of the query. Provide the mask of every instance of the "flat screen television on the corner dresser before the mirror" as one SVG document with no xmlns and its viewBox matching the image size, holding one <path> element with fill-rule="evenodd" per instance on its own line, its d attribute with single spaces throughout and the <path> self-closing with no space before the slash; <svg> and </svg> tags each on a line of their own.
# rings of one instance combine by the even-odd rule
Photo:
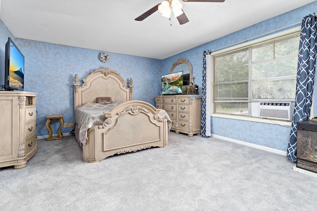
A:
<svg viewBox="0 0 317 211">
<path fill-rule="evenodd" d="M 162 95 L 182 94 L 183 71 L 163 75 L 161 84 Z"/>
</svg>

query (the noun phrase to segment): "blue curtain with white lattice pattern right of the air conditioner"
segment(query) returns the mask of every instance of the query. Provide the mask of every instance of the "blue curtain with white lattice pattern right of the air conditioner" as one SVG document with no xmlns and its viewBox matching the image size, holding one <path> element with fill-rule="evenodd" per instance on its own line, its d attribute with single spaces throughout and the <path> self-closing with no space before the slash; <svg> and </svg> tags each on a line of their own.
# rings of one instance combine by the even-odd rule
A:
<svg viewBox="0 0 317 211">
<path fill-rule="evenodd" d="M 316 30 L 315 14 L 304 17 L 298 52 L 294 118 L 287 148 L 287 158 L 293 162 L 297 160 L 297 122 L 310 120 L 317 51 Z"/>
</svg>

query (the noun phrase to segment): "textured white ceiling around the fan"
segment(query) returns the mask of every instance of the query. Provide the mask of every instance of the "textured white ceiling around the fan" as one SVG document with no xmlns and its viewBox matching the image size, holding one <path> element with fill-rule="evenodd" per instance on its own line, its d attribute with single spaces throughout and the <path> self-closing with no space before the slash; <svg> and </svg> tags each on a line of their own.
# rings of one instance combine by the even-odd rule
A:
<svg viewBox="0 0 317 211">
<path fill-rule="evenodd" d="M 0 19 L 16 38 L 164 59 L 316 0 L 181 1 L 184 25 L 134 20 L 161 1 L 1 0 Z"/>
</svg>

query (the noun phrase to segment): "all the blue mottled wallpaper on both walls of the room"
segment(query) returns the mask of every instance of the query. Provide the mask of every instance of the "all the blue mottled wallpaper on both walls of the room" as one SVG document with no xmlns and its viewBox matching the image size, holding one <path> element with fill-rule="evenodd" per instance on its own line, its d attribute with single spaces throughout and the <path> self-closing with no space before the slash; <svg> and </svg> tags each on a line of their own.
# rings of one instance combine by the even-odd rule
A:
<svg viewBox="0 0 317 211">
<path fill-rule="evenodd" d="M 168 73 L 177 59 L 189 60 L 193 66 L 195 84 L 201 87 L 204 50 L 215 50 L 234 43 L 247 42 L 265 33 L 276 33 L 276 30 L 280 28 L 286 30 L 289 28 L 286 26 L 293 24 L 299 26 L 298 22 L 301 22 L 302 17 L 316 12 L 314 11 L 316 8 L 317 2 L 311 3 L 164 60 L 107 52 L 110 55 L 107 63 L 99 61 L 98 56 L 101 51 L 98 50 L 14 39 L 0 21 L 0 71 L 4 69 L 4 62 L 2 62 L 4 61 L 4 44 L 7 37 L 11 37 L 25 56 L 25 90 L 38 93 L 37 135 L 47 135 L 46 115 L 63 114 L 65 123 L 74 121 L 73 79 L 75 74 L 82 79 L 86 78 L 90 71 L 108 67 L 118 71 L 125 80 L 133 78 L 135 100 L 143 100 L 154 105 L 154 96 L 160 93 L 160 76 Z M 314 97 L 314 104 L 317 106 L 316 99 Z M 314 109 L 317 112 L 317 108 Z M 57 127 L 58 124 L 54 129 Z M 71 128 L 63 128 L 62 132 L 66 133 L 70 130 Z M 286 151 L 290 128 L 211 118 L 211 133 Z"/>
</svg>

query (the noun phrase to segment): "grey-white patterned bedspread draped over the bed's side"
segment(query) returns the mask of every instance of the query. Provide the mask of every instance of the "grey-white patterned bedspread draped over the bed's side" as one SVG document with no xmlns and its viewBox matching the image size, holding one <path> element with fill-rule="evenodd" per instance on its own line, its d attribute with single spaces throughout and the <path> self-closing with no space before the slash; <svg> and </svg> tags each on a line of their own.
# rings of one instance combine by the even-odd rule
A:
<svg viewBox="0 0 317 211">
<path fill-rule="evenodd" d="M 122 102 L 116 101 L 110 104 L 87 103 L 75 111 L 75 121 L 79 127 L 79 141 L 83 145 L 87 143 L 87 130 L 93 126 L 103 125 L 106 117 L 104 112 L 109 112 Z"/>
</svg>

